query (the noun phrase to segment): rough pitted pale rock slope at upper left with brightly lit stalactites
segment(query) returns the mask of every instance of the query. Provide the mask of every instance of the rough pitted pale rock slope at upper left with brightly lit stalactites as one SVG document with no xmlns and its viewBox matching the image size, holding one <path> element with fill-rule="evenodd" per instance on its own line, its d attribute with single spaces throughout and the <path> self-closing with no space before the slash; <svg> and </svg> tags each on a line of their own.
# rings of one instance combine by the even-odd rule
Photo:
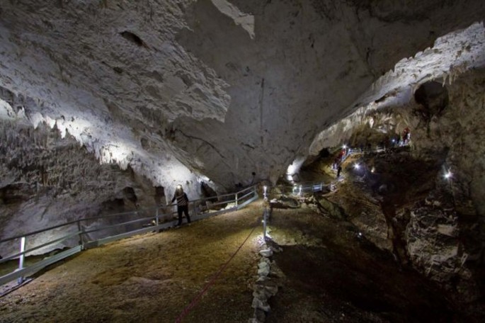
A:
<svg viewBox="0 0 485 323">
<path fill-rule="evenodd" d="M 173 39 L 190 2 L 2 1 L 0 98 L 167 195 L 195 183 L 188 157 L 166 140 L 169 123 L 224 120 L 229 96 Z"/>
</svg>

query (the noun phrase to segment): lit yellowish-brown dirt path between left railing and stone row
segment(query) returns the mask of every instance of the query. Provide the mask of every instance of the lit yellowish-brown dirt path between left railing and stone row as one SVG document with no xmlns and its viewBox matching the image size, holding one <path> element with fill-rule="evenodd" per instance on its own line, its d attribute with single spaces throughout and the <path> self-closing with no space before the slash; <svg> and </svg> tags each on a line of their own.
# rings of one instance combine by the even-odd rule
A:
<svg viewBox="0 0 485 323">
<path fill-rule="evenodd" d="M 256 202 L 190 226 L 84 251 L 1 298 L 0 322 L 175 322 L 257 226 L 183 319 L 247 322 L 261 215 Z"/>
</svg>

